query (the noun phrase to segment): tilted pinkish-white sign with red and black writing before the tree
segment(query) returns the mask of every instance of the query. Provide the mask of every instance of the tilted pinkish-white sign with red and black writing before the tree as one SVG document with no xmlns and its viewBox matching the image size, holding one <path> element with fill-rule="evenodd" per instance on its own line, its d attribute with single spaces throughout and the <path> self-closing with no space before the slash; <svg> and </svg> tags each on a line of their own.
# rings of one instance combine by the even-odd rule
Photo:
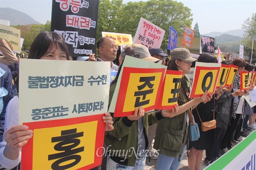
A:
<svg viewBox="0 0 256 170">
<path fill-rule="evenodd" d="M 148 49 L 160 48 L 165 31 L 151 22 L 140 18 L 133 44 L 142 44 Z"/>
</svg>

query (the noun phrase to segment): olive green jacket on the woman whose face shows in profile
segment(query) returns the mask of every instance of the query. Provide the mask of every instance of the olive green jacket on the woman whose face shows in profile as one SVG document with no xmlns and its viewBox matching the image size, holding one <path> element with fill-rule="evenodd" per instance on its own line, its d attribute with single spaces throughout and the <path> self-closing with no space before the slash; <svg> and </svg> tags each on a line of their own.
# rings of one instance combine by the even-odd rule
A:
<svg viewBox="0 0 256 170">
<path fill-rule="evenodd" d="M 191 81 L 186 75 L 181 80 L 181 86 L 184 91 L 188 91 Z M 186 103 L 186 96 L 179 91 L 178 104 Z M 154 148 L 159 150 L 159 153 L 170 157 L 179 157 L 182 155 L 183 146 L 188 138 L 188 124 L 186 121 L 187 111 L 173 118 L 161 119 L 157 123 Z"/>
</svg>

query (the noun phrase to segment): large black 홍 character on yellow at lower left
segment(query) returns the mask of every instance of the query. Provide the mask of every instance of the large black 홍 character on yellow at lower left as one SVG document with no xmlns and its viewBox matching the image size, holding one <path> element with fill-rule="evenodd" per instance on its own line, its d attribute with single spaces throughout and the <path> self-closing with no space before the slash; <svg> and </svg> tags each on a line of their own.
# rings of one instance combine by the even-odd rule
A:
<svg viewBox="0 0 256 170">
<path fill-rule="evenodd" d="M 81 160 L 81 156 L 76 154 L 83 152 L 84 147 L 75 147 L 77 147 L 80 144 L 80 139 L 78 138 L 82 137 L 83 135 L 83 132 L 77 133 L 76 129 L 70 129 L 62 130 L 61 136 L 52 137 L 52 143 L 58 142 L 57 144 L 55 144 L 54 149 L 57 151 L 63 151 L 48 156 L 48 160 L 57 159 L 55 162 L 53 162 L 51 166 L 53 170 L 64 170 L 73 167 L 79 163 L 79 161 Z M 75 161 L 70 162 L 71 160 Z M 64 162 L 66 161 L 68 161 L 68 164 L 64 164 Z"/>
</svg>

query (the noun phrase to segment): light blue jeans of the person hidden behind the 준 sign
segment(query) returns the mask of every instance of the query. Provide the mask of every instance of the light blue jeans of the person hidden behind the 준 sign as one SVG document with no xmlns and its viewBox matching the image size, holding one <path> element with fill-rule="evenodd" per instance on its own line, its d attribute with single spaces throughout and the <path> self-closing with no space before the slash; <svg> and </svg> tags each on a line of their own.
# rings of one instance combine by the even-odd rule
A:
<svg viewBox="0 0 256 170">
<path fill-rule="evenodd" d="M 113 161 L 109 156 L 107 158 L 107 170 L 144 170 L 146 163 L 146 156 L 135 161 L 135 167 L 122 165 Z"/>
</svg>

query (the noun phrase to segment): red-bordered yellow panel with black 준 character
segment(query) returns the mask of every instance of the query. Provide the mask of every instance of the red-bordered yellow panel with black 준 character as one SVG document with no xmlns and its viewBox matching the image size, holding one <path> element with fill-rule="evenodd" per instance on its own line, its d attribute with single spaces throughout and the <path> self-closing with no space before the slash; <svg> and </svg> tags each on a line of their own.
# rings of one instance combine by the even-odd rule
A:
<svg viewBox="0 0 256 170">
<path fill-rule="evenodd" d="M 165 68 L 124 67 L 114 117 L 133 115 L 139 106 L 143 106 L 145 112 L 153 110 L 164 73 Z"/>
</svg>

